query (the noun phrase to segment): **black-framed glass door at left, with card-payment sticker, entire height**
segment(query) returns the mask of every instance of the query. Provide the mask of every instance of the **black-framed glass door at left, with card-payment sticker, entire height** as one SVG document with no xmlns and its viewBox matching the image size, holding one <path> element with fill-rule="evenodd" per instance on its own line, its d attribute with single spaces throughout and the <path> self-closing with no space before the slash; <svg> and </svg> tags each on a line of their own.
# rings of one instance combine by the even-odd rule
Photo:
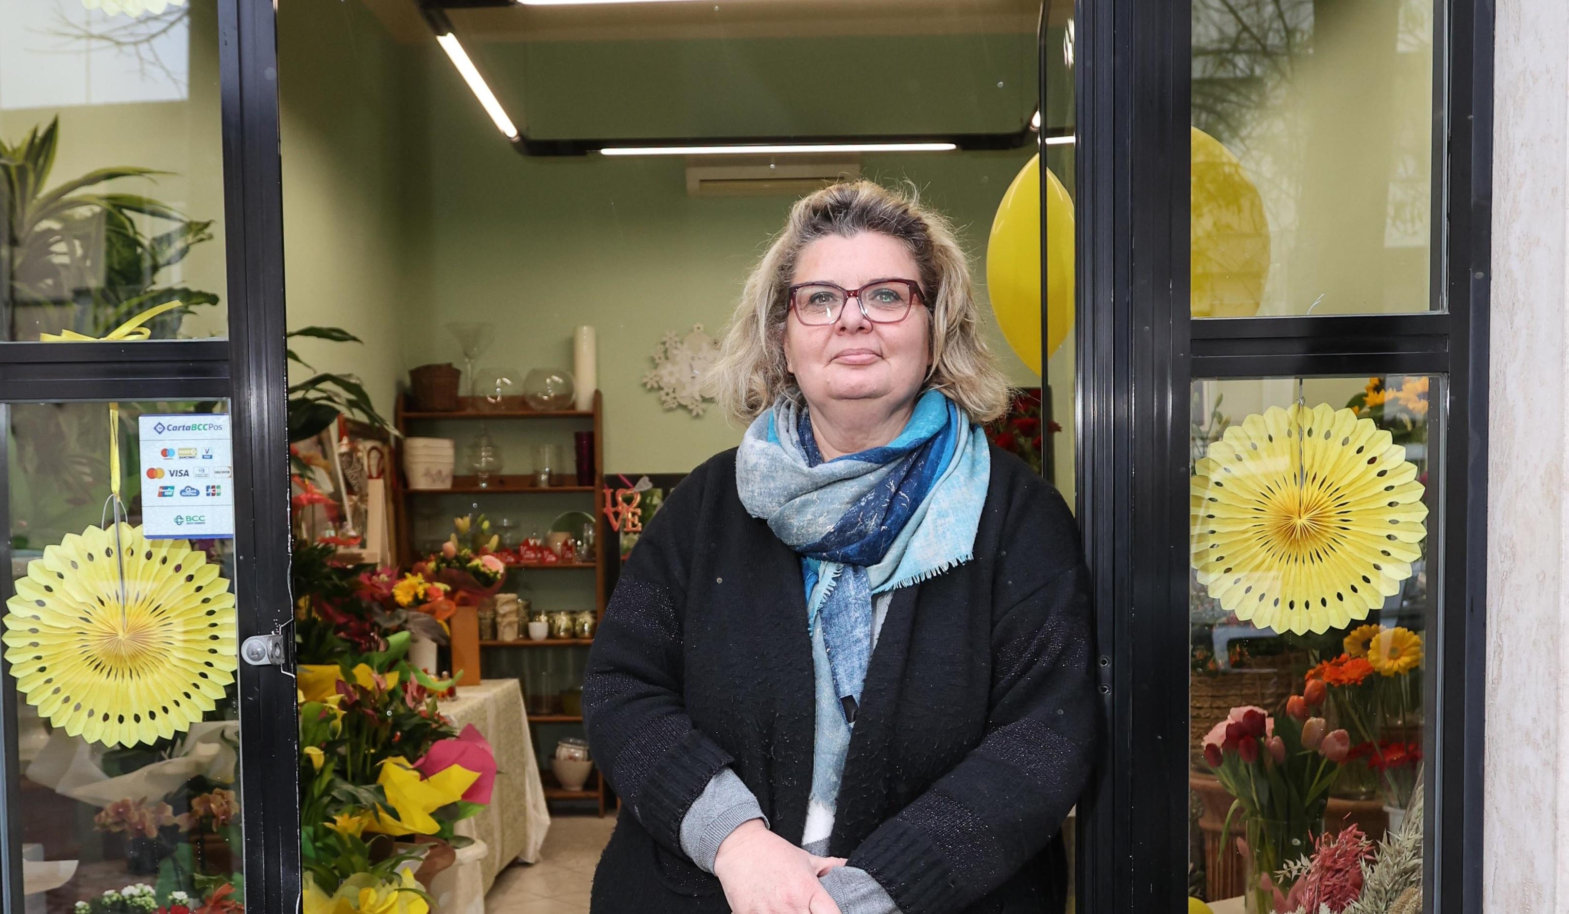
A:
<svg viewBox="0 0 1569 914">
<path fill-rule="evenodd" d="M 273 8 L 0 36 L 3 909 L 292 909 Z"/>
</svg>

